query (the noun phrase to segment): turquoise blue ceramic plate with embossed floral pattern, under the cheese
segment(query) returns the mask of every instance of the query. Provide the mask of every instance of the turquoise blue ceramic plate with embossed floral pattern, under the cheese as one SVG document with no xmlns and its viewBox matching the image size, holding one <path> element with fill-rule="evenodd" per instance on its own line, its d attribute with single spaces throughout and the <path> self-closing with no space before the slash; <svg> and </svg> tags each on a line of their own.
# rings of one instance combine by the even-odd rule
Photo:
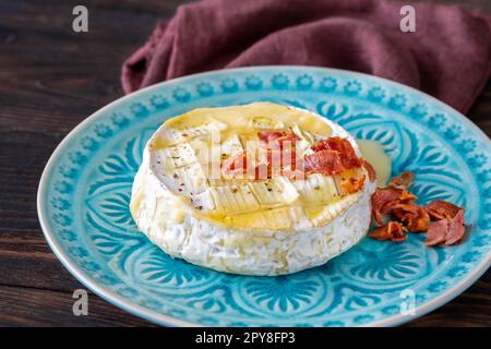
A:
<svg viewBox="0 0 491 349">
<path fill-rule="evenodd" d="M 324 266 L 282 277 L 229 275 L 169 257 L 136 230 L 128 209 L 146 140 L 190 109 L 256 100 L 310 109 L 358 139 L 381 142 L 393 174 L 416 172 L 421 203 L 466 207 L 469 238 L 452 248 L 426 248 L 424 234 L 404 243 L 366 238 Z M 109 302 L 153 322 L 386 326 L 444 304 L 488 269 L 490 171 L 488 136 L 416 89 L 348 71 L 258 67 L 177 79 L 100 109 L 58 146 L 37 204 L 64 266 Z"/>
</svg>

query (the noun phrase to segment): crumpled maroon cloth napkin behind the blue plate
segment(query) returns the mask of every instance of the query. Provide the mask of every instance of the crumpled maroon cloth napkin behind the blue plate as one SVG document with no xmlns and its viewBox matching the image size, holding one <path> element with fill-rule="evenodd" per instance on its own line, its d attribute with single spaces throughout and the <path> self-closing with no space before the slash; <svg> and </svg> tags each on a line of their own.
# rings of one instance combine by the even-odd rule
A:
<svg viewBox="0 0 491 349">
<path fill-rule="evenodd" d="M 412 4 L 416 33 L 383 0 L 205 0 L 178 8 L 122 67 L 125 93 L 221 68 L 304 64 L 364 72 L 465 112 L 491 71 L 491 21 L 458 7 Z"/>
</svg>

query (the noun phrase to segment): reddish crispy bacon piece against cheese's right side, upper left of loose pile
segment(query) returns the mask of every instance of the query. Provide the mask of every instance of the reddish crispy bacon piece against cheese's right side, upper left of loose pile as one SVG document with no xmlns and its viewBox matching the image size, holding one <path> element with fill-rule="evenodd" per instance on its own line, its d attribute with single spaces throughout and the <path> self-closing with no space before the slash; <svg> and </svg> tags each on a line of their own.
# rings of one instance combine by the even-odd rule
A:
<svg viewBox="0 0 491 349">
<path fill-rule="evenodd" d="M 391 214 L 396 205 L 416 200 L 416 196 L 407 191 L 382 188 L 375 190 L 372 195 L 372 213 L 379 226 L 383 225 L 382 214 Z"/>
</svg>

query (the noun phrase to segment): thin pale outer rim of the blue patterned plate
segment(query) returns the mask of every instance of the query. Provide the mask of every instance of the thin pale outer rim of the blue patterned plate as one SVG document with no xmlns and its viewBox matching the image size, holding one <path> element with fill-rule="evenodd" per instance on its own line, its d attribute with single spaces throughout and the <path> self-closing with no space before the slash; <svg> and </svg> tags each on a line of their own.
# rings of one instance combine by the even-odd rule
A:
<svg viewBox="0 0 491 349">
<path fill-rule="evenodd" d="M 41 227 L 43 233 L 45 236 L 45 239 L 48 242 L 48 245 L 50 246 L 51 251 L 55 253 L 57 258 L 62 263 L 62 265 L 69 270 L 70 274 L 72 274 L 73 277 L 75 277 L 80 282 L 82 282 L 85 287 L 87 287 L 89 290 L 92 290 L 94 293 L 106 300 L 107 302 L 123 309 L 124 311 L 139 316 L 143 317 L 146 321 L 149 321 L 152 323 L 156 323 L 159 325 L 165 326 L 183 326 L 183 327 L 201 327 L 202 324 L 196 324 L 188 321 L 182 321 L 180 318 L 157 313 L 155 311 L 152 311 L 147 308 L 144 308 L 142 305 L 139 305 L 136 303 L 133 303 L 131 301 L 128 301 L 127 299 L 122 298 L 121 296 L 117 294 L 116 292 L 111 291 L 104 285 L 100 285 L 93 278 L 91 278 L 88 275 L 86 275 L 85 272 L 83 272 L 75 263 L 72 263 L 67 255 L 67 253 L 61 249 L 61 246 L 57 243 L 55 239 L 55 233 L 50 230 L 47 215 L 44 207 L 44 197 L 46 196 L 47 191 L 47 184 L 49 180 L 49 174 L 52 171 L 52 168 L 56 164 L 56 160 L 58 159 L 59 155 L 61 154 L 63 147 L 69 144 L 70 141 L 73 139 L 76 139 L 77 134 L 84 129 L 86 124 L 88 124 L 92 120 L 95 120 L 99 117 L 99 115 L 104 115 L 106 110 L 112 109 L 116 106 L 123 104 L 128 99 L 137 98 L 139 95 L 143 95 L 152 89 L 157 89 L 161 86 L 179 83 L 181 81 L 191 80 L 196 76 L 206 76 L 206 75 L 214 75 L 214 74 L 220 74 L 220 73 L 228 73 L 228 72 L 240 72 L 240 71 L 258 71 L 258 70 L 267 70 L 267 69 L 277 69 L 277 70 L 287 70 L 287 69 L 294 69 L 294 70 L 318 70 L 323 72 L 334 72 L 334 73 L 342 73 L 342 74 L 352 74 L 352 76 L 362 76 L 364 79 L 370 79 L 374 81 L 380 81 L 383 83 L 388 83 L 390 85 L 395 85 L 398 88 L 409 91 L 411 93 L 416 94 L 422 94 L 426 98 L 438 105 L 439 107 L 443 107 L 445 109 L 448 109 L 453 112 L 454 116 L 456 116 L 460 121 L 464 122 L 464 125 L 467 128 L 470 128 L 474 132 L 478 133 L 481 137 L 484 140 L 488 140 L 488 145 L 491 146 L 491 140 L 490 137 L 479 128 L 477 127 L 472 121 L 470 121 L 466 116 L 464 116 L 462 112 L 453 108 L 452 106 L 443 103 L 442 100 L 428 95 L 424 92 L 421 92 L 417 88 L 414 88 L 411 86 L 404 85 L 402 83 L 387 80 L 384 77 L 370 75 L 367 73 L 360 73 L 349 70 L 343 70 L 343 69 L 333 69 L 333 68 L 324 68 L 324 67 L 314 67 L 314 65 L 252 65 L 252 67 L 241 67 L 241 68 L 231 68 L 231 69 L 220 69 L 220 70 L 212 70 L 206 71 L 202 73 L 195 73 L 190 75 L 180 76 L 177 79 L 164 81 L 144 88 L 141 88 L 136 92 L 133 92 L 128 95 L 123 95 L 119 97 L 118 99 L 105 105 L 103 108 L 97 109 L 92 115 L 83 119 L 79 124 L 75 125 L 64 137 L 63 140 L 57 145 L 52 154 L 50 155 L 48 161 L 46 163 L 46 166 L 43 170 L 38 189 L 37 189 L 37 197 L 36 197 L 36 206 L 37 206 L 37 216 L 39 219 L 39 225 Z M 429 312 L 444 305 L 445 303 L 452 301 L 457 296 L 459 296 L 462 292 L 464 292 L 466 289 L 468 289 L 471 285 L 474 285 L 490 267 L 491 265 L 491 250 L 488 252 L 488 255 L 482 258 L 482 261 L 472 269 L 469 275 L 460 280 L 457 285 L 451 287 L 450 289 L 445 290 L 444 292 L 440 293 L 429 302 L 426 302 L 422 305 L 419 305 L 415 309 L 414 315 L 403 315 L 403 314 L 396 314 L 392 316 L 387 316 L 383 320 L 379 320 L 375 322 L 370 322 L 368 324 L 364 324 L 362 326 L 367 327 L 376 327 L 376 326 L 397 326 L 410 321 L 414 321 L 420 316 L 423 316 L 428 314 Z"/>
</svg>

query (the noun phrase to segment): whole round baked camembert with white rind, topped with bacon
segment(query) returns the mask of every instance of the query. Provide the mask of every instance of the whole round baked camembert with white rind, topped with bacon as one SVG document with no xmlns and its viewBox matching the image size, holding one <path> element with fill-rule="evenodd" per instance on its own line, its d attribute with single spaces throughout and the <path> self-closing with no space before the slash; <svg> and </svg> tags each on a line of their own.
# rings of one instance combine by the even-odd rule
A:
<svg viewBox="0 0 491 349">
<path fill-rule="evenodd" d="M 167 120 L 131 196 L 139 229 L 173 257 L 282 275 L 324 264 L 370 226 L 374 170 L 342 127 L 254 103 Z"/>
</svg>

